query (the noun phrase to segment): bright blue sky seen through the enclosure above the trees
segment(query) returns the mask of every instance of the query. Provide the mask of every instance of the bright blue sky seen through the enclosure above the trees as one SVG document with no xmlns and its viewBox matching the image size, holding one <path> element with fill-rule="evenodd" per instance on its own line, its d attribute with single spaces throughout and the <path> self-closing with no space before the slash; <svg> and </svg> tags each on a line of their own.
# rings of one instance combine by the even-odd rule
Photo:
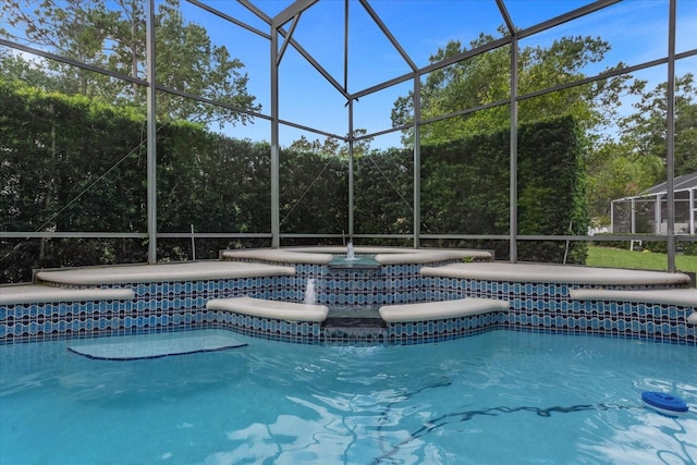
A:
<svg viewBox="0 0 697 465">
<path fill-rule="evenodd" d="M 206 27 L 212 44 L 224 45 L 232 57 L 244 63 L 244 72 L 249 77 L 248 93 L 261 105 L 261 112 L 270 114 L 269 25 L 235 0 L 199 1 L 260 33 L 249 32 L 181 0 L 184 20 Z M 269 16 L 292 3 L 291 0 L 250 1 Z M 521 29 L 588 3 L 588 0 L 505 0 L 513 23 Z M 460 40 L 469 48 L 469 42 L 481 33 L 500 37 L 498 29 L 504 24 L 494 0 L 369 0 L 369 4 L 417 68 L 429 64 L 429 57 L 448 41 Z M 293 33 L 293 39 L 331 74 L 340 87 L 346 85 L 348 94 L 353 94 L 411 72 L 407 61 L 357 0 L 348 2 L 348 42 L 344 48 L 344 9 L 343 0 L 320 0 L 301 15 Z M 564 36 L 598 36 L 610 42 L 612 49 L 601 63 L 584 70 L 586 75 L 596 75 L 619 62 L 636 65 L 665 57 L 668 12 L 668 0 L 625 0 L 524 38 L 519 48 L 548 47 Z M 697 0 L 677 0 L 678 53 L 697 49 L 696 25 Z M 291 23 L 285 28 L 290 29 Z M 346 52 L 347 69 L 344 68 Z M 678 75 L 697 70 L 697 58 L 678 61 L 676 68 Z M 346 98 L 293 47 L 285 49 L 279 75 L 282 120 L 340 136 L 348 133 Z M 655 66 L 634 76 L 657 85 L 667 81 L 667 66 Z M 369 133 L 389 130 L 394 101 L 412 89 L 413 82 L 407 81 L 354 101 L 354 129 L 365 129 Z M 621 113 L 631 112 L 629 103 L 627 98 Z M 227 125 L 221 132 L 239 138 L 269 140 L 268 120 L 256 118 L 254 121 L 247 125 Z M 321 134 L 281 126 L 282 146 L 301 136 L 310 140 L 325 138 Z M 400 137 L 399 132 L 377 137 L 372 147 L 400 146 Z"/>
</svg>

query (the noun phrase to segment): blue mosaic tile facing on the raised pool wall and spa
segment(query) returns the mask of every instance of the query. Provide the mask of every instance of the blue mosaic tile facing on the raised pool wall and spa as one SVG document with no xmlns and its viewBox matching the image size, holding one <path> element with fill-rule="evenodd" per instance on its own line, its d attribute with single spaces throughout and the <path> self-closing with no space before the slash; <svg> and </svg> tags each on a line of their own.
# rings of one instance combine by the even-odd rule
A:
<svg viewBox="0 0 697 465">
<path fill-rule="evenodd" d="M 288 264 L 286 264 L 288 265 Z M 425 264 L 428 266 L 443 264 Z M 476 334 L 492 329 L 566 334 L 596 334 L 697 346 L 697 326 L 686 325 L 694 308 L 613 301 L 574 301 L 572 289 L 633 289 L 565 283 L 521 283 L 421 277 L 425 265 L 388 265 L 380 270 L 346 271 L 326 265 L 296 265 L 296 276 L 172 281 L 103 285 L 133 289 L 130 301 L 16 304 L 0 306 L 0 343 L 134 331 L 170 331 L 221 327 L 255 336 L 299 343 L 423 343 Z M 510 302 L 509 311 L 412 323 L 384 329 L 329 331 L 319 323 L 286 327 L 286 322 L 244 319 L 206 309 L 211 298 L 252 296 L 302 302 L 307 280 L 317 282 L 318 303 L 342 308 L 480 297 Z M 445 330 L 439 329 L 441 325 Z M 412 326 L 409 326 L 412 325 Z M 436 328 L 436 329 L 435 329 Z"/>
</svg>

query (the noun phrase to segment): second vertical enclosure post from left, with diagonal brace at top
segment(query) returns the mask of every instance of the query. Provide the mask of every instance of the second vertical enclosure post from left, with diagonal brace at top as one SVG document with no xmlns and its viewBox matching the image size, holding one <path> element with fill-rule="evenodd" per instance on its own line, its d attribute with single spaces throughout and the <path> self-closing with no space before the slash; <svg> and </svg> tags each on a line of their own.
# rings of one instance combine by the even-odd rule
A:
<svg viewBox="0 0 697 465">
<path fill-rule="evenodd" d="M 279 30 L 271 28 L 271 247 L 281 246 L 279 196 Z"/>
</svg>

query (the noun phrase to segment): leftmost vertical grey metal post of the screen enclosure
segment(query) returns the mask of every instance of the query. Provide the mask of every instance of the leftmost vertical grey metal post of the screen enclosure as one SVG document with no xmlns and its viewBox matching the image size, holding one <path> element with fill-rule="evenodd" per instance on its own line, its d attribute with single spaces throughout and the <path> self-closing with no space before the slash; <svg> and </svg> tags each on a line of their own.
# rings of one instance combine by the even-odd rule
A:
<svg viewBox="0 0 697 465">
<path fill-rule="evenodd" d="M 157 112 L 155 89 L 155 0 L 148 1 L 146 16 L 147 60 L 147 216 L 148 264 L 157 264 Z"/>
</svg>

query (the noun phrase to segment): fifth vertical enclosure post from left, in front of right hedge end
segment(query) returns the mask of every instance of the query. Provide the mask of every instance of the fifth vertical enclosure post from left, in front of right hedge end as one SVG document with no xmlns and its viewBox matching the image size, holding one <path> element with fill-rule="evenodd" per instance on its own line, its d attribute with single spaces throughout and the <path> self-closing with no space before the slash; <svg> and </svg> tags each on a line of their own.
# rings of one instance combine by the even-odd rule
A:
<svg viewBox="0 0 697 465">
<path fill-rule="evenodd" d="M 518 38 L 511 38 L 511 174 L 509 197 L 510 261 L 518 260 Z"/>
</svg>

